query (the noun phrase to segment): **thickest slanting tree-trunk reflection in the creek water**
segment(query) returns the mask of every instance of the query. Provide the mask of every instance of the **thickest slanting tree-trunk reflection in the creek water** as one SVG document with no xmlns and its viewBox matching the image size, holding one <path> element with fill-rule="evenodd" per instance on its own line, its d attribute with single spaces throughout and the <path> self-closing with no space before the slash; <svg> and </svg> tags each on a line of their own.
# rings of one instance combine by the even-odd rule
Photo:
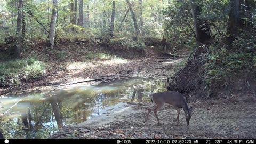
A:
<svg viewBox="0 0 256 144">
<path fill-rule="evenodd" d="M 62 121 L 61 121 L 60 109 L 58 106 L 57 98 L 56 97 L 52 98 L 50 103 L 52 105 L 53 113 L 54 113 L 58 128 L 60 129 L 61 127 L 63 127 L 63 125 L 62 125 Z"/>
</svg>

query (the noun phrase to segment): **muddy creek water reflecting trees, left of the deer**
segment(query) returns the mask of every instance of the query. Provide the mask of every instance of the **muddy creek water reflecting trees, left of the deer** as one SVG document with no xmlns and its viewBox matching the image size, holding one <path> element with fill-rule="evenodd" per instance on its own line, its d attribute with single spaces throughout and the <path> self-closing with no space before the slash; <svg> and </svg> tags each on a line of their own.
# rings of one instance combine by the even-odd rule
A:
<svg viewBox="0 0 256 144">
<path fill-rule="evenodd" d="M 5 138 L 49 138 L 62 126 L 101 115 L 108 106 L 149 101 L 150 93 L 165 90 L 165 78 L 123 78 L 46 94 L 0 98 L 0 129 Z"/>
</svg>

